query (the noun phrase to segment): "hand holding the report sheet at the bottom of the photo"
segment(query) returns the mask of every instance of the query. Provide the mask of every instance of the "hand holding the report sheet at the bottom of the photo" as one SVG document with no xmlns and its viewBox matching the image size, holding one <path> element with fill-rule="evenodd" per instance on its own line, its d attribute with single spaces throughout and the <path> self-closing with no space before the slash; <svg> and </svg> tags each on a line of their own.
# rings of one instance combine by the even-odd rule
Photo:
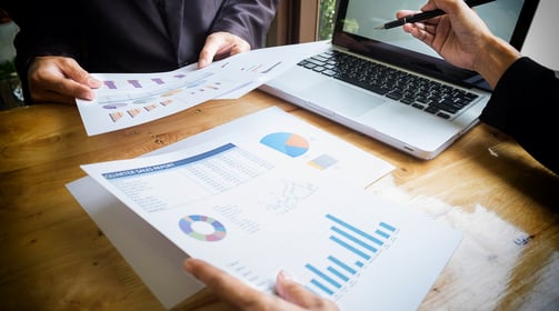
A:
<svg viewBox="0 0 559 311">
<path fill-rule="evenodd" d="M 252 289 L 242 281 L 198 259 L 184 260 L 183 268 L 204 283 L 222 301 L 240 310 L 338 310 L 333 301 L 322 299 L 308 291 L 301 284 L 287 278 L 283 272 L 278 274 L 276 280 L 278 295 L 273 295 Z"/>
</svg>

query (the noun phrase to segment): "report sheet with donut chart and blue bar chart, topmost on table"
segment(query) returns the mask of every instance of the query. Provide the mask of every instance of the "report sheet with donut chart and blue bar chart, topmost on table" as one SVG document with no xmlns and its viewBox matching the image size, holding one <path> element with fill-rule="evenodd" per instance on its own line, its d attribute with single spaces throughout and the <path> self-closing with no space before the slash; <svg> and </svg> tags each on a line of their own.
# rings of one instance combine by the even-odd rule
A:
<svg viewBox="0 0 559 311">
<path fill-rule="evenodd" d="M 461 233 L 312 165 L 271 161 L 262 141 L 82 169 L 186 254 L 259 290 L 285 269 L 342 310 L 417 309 Z"/>
</svg>

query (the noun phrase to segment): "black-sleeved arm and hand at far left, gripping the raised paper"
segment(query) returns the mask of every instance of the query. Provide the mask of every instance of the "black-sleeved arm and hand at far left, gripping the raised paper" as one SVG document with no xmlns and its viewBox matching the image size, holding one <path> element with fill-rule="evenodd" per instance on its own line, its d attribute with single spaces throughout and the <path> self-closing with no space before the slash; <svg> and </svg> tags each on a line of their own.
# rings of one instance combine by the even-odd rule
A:
<svg viewBox="0 0 559 311">
<path fill-rule="evenodd" d="M 91 99 L 98 83 L 78 64 L 79 23 L 69 2 L 13 1 L 9 13 L 20 31 L 16 36 L 16 67 L 27 103 L 74 102 Z M 73 12 L 73 10 L 70 10 Z"/>
</svg>

